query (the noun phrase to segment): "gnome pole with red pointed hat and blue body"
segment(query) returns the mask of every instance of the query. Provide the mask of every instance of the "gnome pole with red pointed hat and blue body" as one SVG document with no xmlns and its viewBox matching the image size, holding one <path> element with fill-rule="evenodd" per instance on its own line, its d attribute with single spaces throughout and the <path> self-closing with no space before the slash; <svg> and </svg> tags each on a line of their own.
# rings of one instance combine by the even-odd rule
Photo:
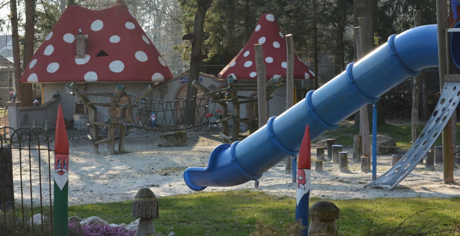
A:
<svg viewBox="0 0 460 236">
<path fill-rule="evenodd" d="M 305 127 L 304 138 L 299 152 L 299 165 L 297 166 L 297 208 L 295 208 L 295 220 L 302 220 L 305 226 L 302 235 L 308 235 L 308 203 L 310 198 L 310 174 L 311 174 L 311 144 L 310 127 Z"/>
</svg>

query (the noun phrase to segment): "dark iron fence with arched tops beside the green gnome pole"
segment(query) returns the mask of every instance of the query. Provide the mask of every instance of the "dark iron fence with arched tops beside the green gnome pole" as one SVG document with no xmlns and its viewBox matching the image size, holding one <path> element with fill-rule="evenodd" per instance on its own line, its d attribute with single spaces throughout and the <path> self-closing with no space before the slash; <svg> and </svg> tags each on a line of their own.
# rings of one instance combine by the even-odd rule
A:
<svg viewBox="0 0 460 236">
<path fill-rule="evenodd" d="M 1 129 L 11 135 L 6 140 L 0 136 L 0 236 L 53 235 L 54 158 L 47 132 L 40 127 Z M 24 131 L 27 140 L 20 138 Z"/>
</svg>

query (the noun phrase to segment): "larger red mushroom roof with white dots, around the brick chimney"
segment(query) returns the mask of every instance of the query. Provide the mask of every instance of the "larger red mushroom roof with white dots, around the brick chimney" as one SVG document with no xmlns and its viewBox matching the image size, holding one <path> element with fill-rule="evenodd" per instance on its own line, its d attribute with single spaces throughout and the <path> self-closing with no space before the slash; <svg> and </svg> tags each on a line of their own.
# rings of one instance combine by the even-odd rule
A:
<svg viewBox="0 0 460 236">
<path fill-rule="evenodd" d="M 76 58 L 75 36 L 87 35 Z M 162 82 L 165 60 L 126 5 L 94 11 L 69 5 L 27 65 L 21 82 Z"/>
</svg>

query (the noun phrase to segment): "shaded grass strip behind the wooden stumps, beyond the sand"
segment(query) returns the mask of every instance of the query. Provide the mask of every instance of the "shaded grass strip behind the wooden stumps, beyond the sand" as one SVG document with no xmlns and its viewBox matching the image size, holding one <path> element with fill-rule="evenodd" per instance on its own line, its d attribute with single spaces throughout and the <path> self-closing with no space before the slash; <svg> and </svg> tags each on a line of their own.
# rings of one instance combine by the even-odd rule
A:
<svg viewBox="0 0 460 236">
<path fill-rule="evenodd" d="M 410 124 L 410 120 L 409 124 Z M 425 123 L 419 122 L 419 134 L 425 128 Z M 353 146 L 353 135 L 359 134 L 359 129 L 354 128 L 353 124 L 340 124 L 339 128 L 328 131 L 322 136 L 328 138 L 334 138 L 339 140 L 339 143 L 343 146 Z M 387 135 L 395 139 L 396 146 L 398 146 L 399 150 L 409 150 L 411 145 L 406 145 L 412 141 L 411 138 L 411 126 L 410 125 L 397 125 L 397 124 L 382 124 L 377 127 L 377 134 L 378 135 Z M 372 135 L 372 127 L 370 129 L 370 135 Z M 457 124 L 457 140 L 460 140 L 460 125 Z M 372 142 L 372 140 L 371 140 Z M 442 146 L 442 135 L 439 135 L 436 142 L 434 143 L 435 146 Z M 405 146 L 403 146 L 405 145 Z"/>
</svg>

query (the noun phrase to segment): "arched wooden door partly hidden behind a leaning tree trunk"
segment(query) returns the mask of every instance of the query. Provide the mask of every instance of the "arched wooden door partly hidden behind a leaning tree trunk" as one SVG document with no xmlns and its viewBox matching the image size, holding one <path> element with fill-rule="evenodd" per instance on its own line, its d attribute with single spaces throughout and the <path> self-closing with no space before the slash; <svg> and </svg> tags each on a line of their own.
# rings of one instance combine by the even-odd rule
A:
<svg viewBox="0 0 460 236">
<path fill-rule="evenodd" d="M 198 94 L 201 93 L 201 90 L 198 90 Z M 176 98 L 176 105 L 175 105 L 175 120 L 177 122 L 176 125 L 183 125 L 184 124 L 184 108 L 187 106 L 185 99 L 187 96 L 187 86 L 182 87 Z M 194 124 L 200 124 L 202 122 L 207 122 L 206 119 L 206 113 L 207 113 L 207 100 L 206 99 L 201 99 L 202 96 L 198 95 L 196 97 L 196 108 L 195 108 L 195 123 Z M 203 121 L 203 119 L 205 119 Z"/>
</svg>

